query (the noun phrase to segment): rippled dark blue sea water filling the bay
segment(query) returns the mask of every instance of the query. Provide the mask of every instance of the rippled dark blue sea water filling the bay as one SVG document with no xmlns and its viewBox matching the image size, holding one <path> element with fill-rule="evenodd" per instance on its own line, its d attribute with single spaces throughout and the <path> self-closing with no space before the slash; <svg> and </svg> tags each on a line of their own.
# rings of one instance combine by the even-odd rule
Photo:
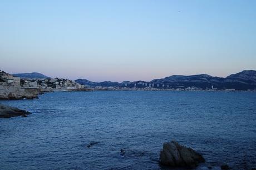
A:
<svg viewBox="0 0 256 170">
<path fill-rule="evenodd" d="M 164 169 L 157 160 L 171 139 L 206 166 L 256 167 L 256 93 L 56 92 L 0 102 L 33 113 L 0 119 L 0 169 Z"/>
</svg>

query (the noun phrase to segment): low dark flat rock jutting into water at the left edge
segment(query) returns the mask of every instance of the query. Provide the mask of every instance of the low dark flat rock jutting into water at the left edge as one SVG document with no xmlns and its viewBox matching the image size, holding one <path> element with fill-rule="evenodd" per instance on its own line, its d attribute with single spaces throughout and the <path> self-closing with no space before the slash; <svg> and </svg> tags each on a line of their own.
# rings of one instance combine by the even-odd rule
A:
<svg viewBox="0 0 256 170">
<path fill-rule="evenodd" d="M 30 112 L 18 109 L 16 107 L 9 107 L 3 104 L 0 104 L 0 118 L 10 118 L 14 116 L 27 117 Z"/>
</svg>

